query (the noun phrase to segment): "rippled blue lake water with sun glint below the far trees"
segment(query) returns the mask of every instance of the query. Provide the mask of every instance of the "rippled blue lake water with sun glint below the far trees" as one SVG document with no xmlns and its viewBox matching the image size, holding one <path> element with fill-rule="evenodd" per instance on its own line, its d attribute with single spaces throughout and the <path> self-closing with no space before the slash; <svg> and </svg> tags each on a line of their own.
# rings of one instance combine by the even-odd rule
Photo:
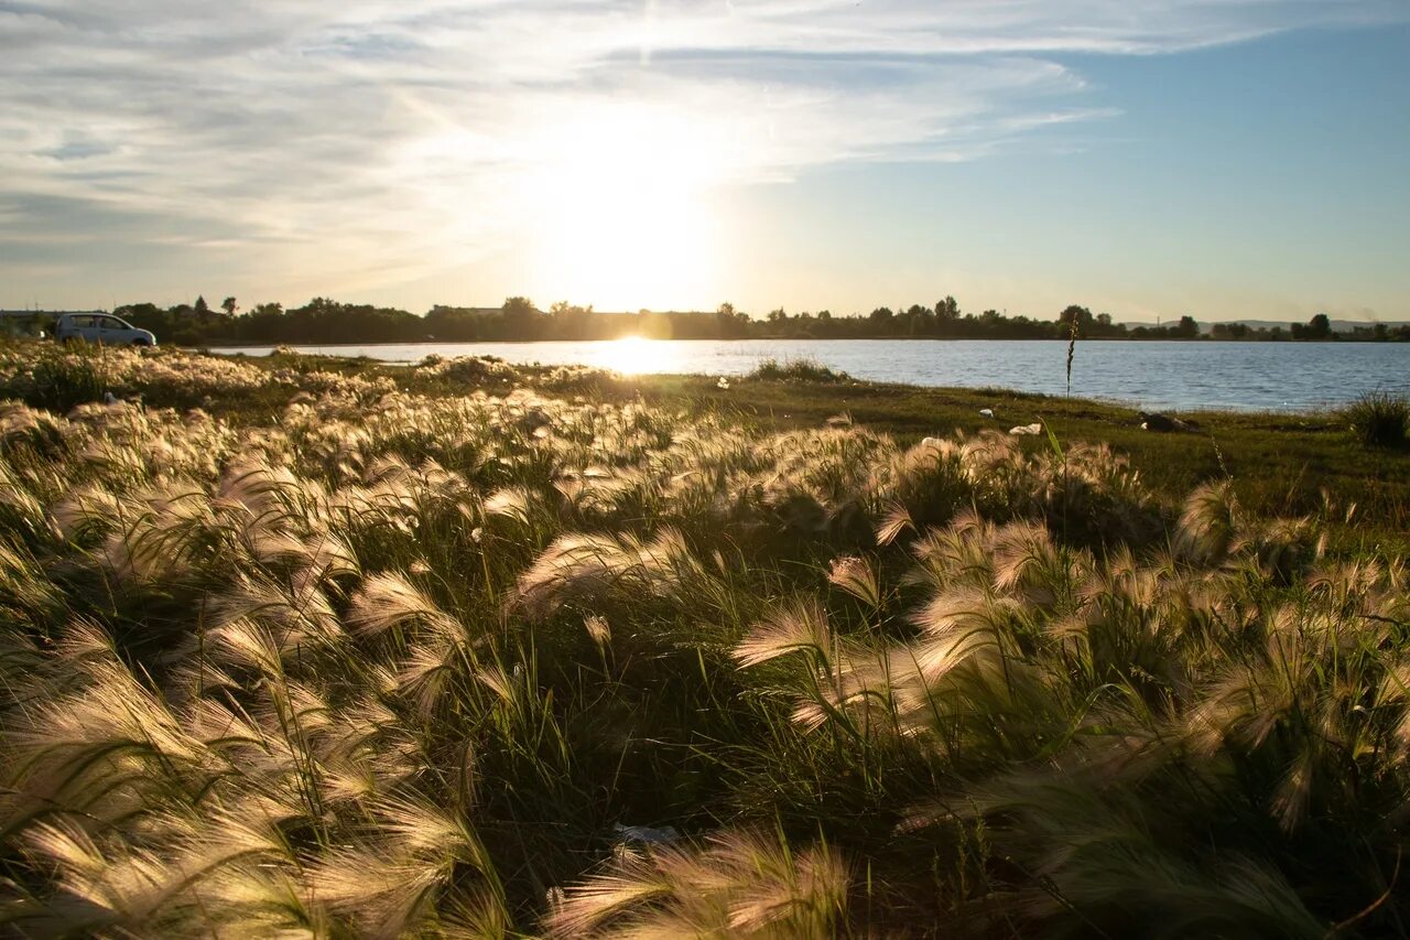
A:
<svg viewBox="0 0 1410 940">
<path fill-rule="evenodd" d="M 856 378 L 912 385 L 1017 388 L 1060 395 L 1060 340 L 616 340 L 587 343 L 393 343 L 300 346 L 300 351 L 422 357 L 499 356 L 510 363 L 584 363 L 623 373 L 740 375 L 764 358 L 814 358 Z M 251 356 L 269 347 L 248 347 Z M 1303 411 L 1365 391 L 1410 392 L 1410 343 L 1079 343 L 1072 394 L 1142 408 Z"/>
</svg>

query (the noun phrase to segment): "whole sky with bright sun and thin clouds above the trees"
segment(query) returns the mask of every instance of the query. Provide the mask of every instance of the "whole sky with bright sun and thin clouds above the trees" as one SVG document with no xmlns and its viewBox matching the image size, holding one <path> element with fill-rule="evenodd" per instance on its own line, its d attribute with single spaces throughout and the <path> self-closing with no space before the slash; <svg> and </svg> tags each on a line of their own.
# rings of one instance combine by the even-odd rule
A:
<svg viewBox="0 0 1410 940">
<path fill-rule="evenodd" d="M 0 308 L 1406 320 L 1407 167 L 1404 0 L 0 0 Z"/>
</svg>

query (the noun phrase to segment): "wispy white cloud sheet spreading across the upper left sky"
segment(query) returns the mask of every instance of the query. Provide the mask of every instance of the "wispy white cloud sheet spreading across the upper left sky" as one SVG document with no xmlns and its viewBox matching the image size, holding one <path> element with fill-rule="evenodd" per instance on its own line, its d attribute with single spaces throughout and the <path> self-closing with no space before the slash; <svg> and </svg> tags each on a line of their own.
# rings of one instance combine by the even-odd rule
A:
<svg viewBox="0 0 1410 940">
<path fill-rule="evenodd" d="M 580 147 L 706 152 L 702 185 L 973 159 L 1034 145 L 1045 126 L 1110 117 L 1059 54 L 1173 52 L 1400 11 L 0 0 L 0 274 L 52 267 L 47 244 L 102 241 L 109 264 L 121 264 L 114 246 L 145 244 L 223 251 L 231 270 L 299 270 L 310 284 L 415 278 L 543 212 L 534 188 Z M 18 241 L 24 253 L 10 250 Z M 68 257 L 89 270 L 96 258 Z"/>
</svg>

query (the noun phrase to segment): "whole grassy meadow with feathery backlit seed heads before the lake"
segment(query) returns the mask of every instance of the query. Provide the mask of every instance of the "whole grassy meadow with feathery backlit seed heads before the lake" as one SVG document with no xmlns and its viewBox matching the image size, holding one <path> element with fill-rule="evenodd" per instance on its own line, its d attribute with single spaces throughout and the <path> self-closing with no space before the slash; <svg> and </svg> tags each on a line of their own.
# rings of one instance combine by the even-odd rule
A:
<svg viewBox="0 0 1410 940">
<path fill-rule="evenodd" d="M 807 371 L 0 346 L 0 929 L 1407 933 L 1403 452 Z"/>
</svg>

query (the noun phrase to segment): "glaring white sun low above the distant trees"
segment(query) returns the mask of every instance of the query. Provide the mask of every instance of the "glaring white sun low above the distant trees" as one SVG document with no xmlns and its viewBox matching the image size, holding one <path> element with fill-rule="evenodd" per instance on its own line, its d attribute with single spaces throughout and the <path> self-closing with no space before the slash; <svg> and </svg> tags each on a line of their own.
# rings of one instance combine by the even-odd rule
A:
<svg viewBox="0 0 1410 940">
<path fill-rule="evenodd" d="M 623 106 L 563 128 L 534 176 L 536 279 L 599 309 L 667 309 L 709 296 L 723 161 L 668 113 Z"/>
</svg>

